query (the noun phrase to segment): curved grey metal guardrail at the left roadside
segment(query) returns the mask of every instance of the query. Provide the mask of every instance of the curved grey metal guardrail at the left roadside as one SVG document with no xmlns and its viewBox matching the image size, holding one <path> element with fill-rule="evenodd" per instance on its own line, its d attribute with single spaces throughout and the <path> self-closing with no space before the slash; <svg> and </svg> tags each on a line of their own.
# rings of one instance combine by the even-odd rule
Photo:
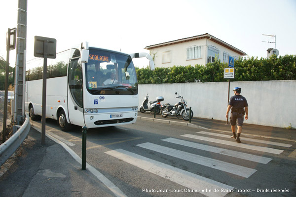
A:
<svg viewBox="0 0 296 197">
<path fill-rule="evenodd" d="M 26 120 L 22 126 L 7 141 L 0 145 L 0 166 L 16 151 L 27 137 L 31 124 L 29 114 L 26 112 Z"/>
</svg>

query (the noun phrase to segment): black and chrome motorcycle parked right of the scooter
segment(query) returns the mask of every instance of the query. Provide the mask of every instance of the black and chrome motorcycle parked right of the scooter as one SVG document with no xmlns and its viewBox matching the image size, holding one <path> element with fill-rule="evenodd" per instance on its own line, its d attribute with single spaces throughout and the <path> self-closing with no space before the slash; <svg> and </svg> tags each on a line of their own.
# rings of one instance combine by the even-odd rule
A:
<svg viewBox="0 0 296 197">
<path fill-rule="evenodd" d="M 177 94 L 178 93 L 175 93 L 175 95 L 177 95 Z M 168 115 L 172 115 L 172 116 L 182 115 L 182 118 L 185 121 L 188 121 L 189 120 L 189 108 L 186 108 L 187 102 L 180 95 L 176 98 L 181 99 L 181 102 L 177 102 L 175 105 L 171 105 L 170 103 L 165 103 L 161 109 L 161 116 L 165 118 Z M 191 111 L 191 118 L 192 117 L 193 117 L 193 111 Z"/>
</svg>

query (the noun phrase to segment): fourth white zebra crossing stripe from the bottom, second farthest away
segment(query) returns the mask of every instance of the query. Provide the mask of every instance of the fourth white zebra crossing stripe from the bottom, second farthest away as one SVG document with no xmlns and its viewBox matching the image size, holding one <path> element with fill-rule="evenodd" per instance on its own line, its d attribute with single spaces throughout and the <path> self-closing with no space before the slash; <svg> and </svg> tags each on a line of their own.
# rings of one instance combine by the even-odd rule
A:
<svg viewBox="0 0 296 197">
<path fill-rule="evenodd" d="M 198 139 L 198 140 L 203 140 L 203 141 L 219 143 L 219 144 L 224 144 L 224 145 L 228 145 L 228 146 L 235 146 L 235 147 L 265 152 L 265 153 L 272 153 L 272 154 L 277 154 L 277 155 L 279 155 L 283 152 L 283 150 L 279 150 L 279 149 L 275 149 L 275 148 L 268 148 L 268 147 L 255 146 L 255 145 L 251 145 L 251 144 L 231 142 L 231 141 L 227 141 L 227 140 L 210 138 L 210 137 L 203 137 L 203 136 L 192 135 L 192 134 L 185 134 L 185 135 L 181 135 L 181 136 L 189 137 L 189 138 L 193 138 L 193 139 Z"/>
</svg>

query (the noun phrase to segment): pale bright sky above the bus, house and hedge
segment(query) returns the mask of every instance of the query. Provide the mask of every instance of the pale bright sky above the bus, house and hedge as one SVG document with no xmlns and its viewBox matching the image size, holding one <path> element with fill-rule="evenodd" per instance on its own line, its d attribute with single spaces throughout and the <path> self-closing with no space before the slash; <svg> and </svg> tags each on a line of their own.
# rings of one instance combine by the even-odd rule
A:
<svg viewBox="0 0 296 197">
<path fill-rule="evenodd" d="M 27 60 L 34 58 L 36 35 L 55 38 L 57 52 L 88 41 L 90 46 L 124 53 L 149 53 L 146 46 L 209 33 L 258 58 L 266 58 L 266 50 L 274 48 L 268 42 L 276 38 L 280 56 L 296 55 L 296 0 L 44 2 L 28 0 Z M 17 27 L 17 9 L 18 0 L 1 0 L 0 56 L 5 60 L 6 33 Z M 12 67 L 15 53 L 10 51 Z M 137 67 L 148 66 L 145 58 L 133 61 Z"/>
</svg>

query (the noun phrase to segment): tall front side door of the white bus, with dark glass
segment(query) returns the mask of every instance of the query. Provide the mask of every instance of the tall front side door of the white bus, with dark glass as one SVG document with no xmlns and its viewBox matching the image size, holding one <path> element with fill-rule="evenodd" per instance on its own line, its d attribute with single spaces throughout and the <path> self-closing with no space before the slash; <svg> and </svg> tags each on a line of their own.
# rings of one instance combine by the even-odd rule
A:
<svg viewBox="0 0 296 197">
<path fill-rule="evenodd" d="M 69 61 L 68 114 L 71 124 L 84 126 L 82 66 L 78 59 Z"/>
</svg>

